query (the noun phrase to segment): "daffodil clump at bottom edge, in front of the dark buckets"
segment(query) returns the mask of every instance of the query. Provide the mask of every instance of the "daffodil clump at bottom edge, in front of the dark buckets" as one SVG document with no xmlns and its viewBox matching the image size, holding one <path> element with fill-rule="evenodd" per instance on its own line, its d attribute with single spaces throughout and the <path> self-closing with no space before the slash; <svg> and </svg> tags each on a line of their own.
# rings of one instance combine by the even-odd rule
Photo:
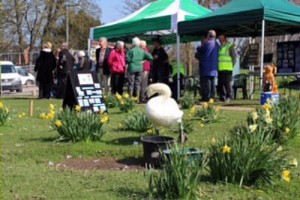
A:
<svg viewBox="0 0 300 200">
<path fill-rule="evenodd" d="M 200 160 L 189 159 L 177 146 L 163 156 L 161 170 L 150 169 L 148 191 L 152 199 L 198 199 Z"/>
</svg>

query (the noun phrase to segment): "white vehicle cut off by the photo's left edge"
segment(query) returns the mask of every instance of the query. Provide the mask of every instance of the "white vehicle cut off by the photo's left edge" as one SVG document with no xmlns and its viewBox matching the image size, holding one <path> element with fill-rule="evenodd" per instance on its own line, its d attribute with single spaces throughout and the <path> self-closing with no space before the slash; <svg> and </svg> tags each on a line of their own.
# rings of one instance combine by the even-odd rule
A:
<svg viewBox="0 0 300 200">
<path fill-rule="evenodd" d="M 21 78 L 14 64 L 10 61 L 0 61 L 0 65 L 2 90 L 22 92 Z"/>
</svg>

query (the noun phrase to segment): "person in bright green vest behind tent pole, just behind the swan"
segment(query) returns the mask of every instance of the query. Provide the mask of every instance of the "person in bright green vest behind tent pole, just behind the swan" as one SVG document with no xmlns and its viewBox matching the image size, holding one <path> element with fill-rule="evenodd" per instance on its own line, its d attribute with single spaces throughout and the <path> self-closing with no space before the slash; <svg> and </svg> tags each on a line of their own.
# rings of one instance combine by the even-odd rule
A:
<svg viewBox="0 0 300 200">
<path fill-rule="evenodd" d="M 177 84 L 177 74 L 178 74 L 178 65 L 177 65 L 177 62 L 176 61 L 173 61 L 173 62 L 171 62 L 171 66 L 172 66 L 172 68 L 171 68 L 171 70 L 172 70 L 172 79 L 173 79 L 173 87 L 172 87 L 172 98 L 173 99 L 175 99 L 176 101 L 178 101 L 179 99 L 178 99 L 178 84 Z M 179 85 L 179 87 L 180 87 L 180 91 L 179 91 L 179 96 L 181 96 L 181 90 L 183 89 L 183 78 L 184 78 L 184 75 L 185 75 L 185 69 L 184 69 L 184 64 L 183 63 L 179 63 L 179 69 L 180 69 L 180 71 L 179 71 L 179 76 L 180 76 L 180 78 L 179 78 L 179 82 L 180 82 L 180 85 Z"/>
</svg>

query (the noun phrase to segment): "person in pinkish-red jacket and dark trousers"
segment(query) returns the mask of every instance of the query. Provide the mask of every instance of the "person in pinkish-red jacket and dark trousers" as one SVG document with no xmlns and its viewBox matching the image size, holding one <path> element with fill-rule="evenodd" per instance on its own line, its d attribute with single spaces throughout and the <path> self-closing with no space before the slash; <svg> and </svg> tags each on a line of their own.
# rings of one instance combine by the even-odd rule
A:
<svg viewBox="0 0 300 200">
<path fill-rule="evenodd" d="M 124 42 L 117 41 L 115 48 L 108 57 L 108 65 L 111 72 L 112 94 L 122 95 L 126 67 Z"/>
</svg>

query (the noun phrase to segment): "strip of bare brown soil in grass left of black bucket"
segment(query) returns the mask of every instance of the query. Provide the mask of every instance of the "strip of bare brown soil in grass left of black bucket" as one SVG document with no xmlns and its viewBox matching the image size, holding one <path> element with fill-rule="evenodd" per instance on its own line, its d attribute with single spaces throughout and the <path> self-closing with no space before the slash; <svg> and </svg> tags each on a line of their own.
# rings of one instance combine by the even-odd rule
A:
<svg viewBox="0 0 300 200">
<path fill-rule="evenodd" d="M 98 158 L 92 160 L 66 159 L 61 163 L 55 163 L 56 170 L 144 170 L 144 163 L 141 158 L 128 158 L 116 160 L 114 158 Z"/>
</svg>

